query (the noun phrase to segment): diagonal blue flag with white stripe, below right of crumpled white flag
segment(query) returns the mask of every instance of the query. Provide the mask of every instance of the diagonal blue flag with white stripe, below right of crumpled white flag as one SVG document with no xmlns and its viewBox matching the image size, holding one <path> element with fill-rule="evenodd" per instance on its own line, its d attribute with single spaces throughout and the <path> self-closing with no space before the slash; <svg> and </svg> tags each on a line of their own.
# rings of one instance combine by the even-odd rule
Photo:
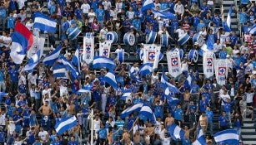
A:
<svg viewBox="0 0 256 145">
<path fill-rule="evenodd" d="M 59 45 L 52 53 L 48 54 L 48 56 L 45 56 L 43 59 L 43 64 L 52 66 L 55 61 L 58 60 L 60 51 L 62 51 L 62 45 Z"/>
</svg>

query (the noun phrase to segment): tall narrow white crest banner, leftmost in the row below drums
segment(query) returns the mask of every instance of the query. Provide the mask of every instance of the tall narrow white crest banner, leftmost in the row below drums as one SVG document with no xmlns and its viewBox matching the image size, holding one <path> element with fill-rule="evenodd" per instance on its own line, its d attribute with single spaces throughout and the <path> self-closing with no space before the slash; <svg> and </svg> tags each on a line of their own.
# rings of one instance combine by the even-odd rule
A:
<svg viewBox="0 0 256 145">
<path fill-rule="evenodd" d="M 83 36 L 83 60 L 89 64 L 94 57 L 94 37 Z"/>
</svg>

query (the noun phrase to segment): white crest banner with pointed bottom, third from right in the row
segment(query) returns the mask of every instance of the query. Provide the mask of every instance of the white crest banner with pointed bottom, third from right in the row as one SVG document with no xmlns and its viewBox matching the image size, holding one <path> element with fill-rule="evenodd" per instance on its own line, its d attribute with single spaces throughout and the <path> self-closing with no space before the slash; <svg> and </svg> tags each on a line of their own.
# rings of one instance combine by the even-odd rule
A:
<svg viewBox="0 0 256 145">
<path fill-rule="evenodd" d="M 168 51 L 166 52 L 167 61 L 168 61 L 168 72 L 174 78 L 178 75 L 181 75 L 181 63 L 178 51 Z"/>
</svg>

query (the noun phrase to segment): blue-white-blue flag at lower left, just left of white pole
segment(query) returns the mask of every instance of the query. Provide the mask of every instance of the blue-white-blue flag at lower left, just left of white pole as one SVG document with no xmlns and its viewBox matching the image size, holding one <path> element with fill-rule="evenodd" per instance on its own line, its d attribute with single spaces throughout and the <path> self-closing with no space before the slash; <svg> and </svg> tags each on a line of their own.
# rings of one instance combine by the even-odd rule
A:
<svg viewBox="0 0 256 145">
<path fill-rule="evenodd" d="M 62 133 L 76 126 L 77 123 L 78 121 L 75 116 L 71 116 L 68 118 L 61 118 L 61 120 L 59 120 L 58 123 L 55 124 L 54 128 L 58 133 L 58 135 L 61 135 Z"/>
</svg>

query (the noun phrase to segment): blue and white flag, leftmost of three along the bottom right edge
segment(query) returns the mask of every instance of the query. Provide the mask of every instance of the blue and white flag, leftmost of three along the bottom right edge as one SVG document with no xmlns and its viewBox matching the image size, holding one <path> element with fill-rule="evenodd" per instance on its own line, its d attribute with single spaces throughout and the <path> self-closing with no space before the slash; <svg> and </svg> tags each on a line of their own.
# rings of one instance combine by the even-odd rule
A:
<svg viewBox="0 0 256 145">
<path fill-rule="evenodd" d="M 185 131 L 182 128 L 179 128 L 178 125 L 172 123 L 167 127 L 168 134 L 173 138 L 173 140 L 177 139 L 184 139 L 185 138 Z"/>
</svg>

